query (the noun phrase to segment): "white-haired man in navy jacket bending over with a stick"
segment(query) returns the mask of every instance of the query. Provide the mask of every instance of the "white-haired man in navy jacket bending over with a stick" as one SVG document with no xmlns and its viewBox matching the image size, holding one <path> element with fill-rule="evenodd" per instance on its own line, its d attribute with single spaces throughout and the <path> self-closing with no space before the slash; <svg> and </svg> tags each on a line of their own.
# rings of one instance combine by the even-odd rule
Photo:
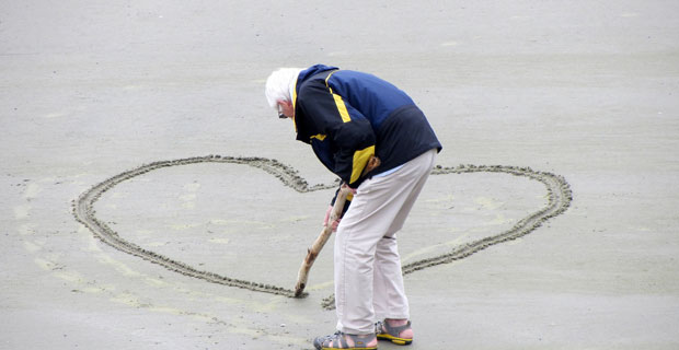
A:
<svg viewBox="0 0 679 350">
<path fill-rule="evenodd" d="M 266 98 L 354 192 L 335 234 L 337 331 L 315 338 L 315 348 L 377 349 L 378 338 L 411 343 L 396 232 L 441 150 L 425 115 L 391 83 L 324 65 L 274 71 Z M 375 158 L 379 165 L 366 171 Z"/>
</svg>

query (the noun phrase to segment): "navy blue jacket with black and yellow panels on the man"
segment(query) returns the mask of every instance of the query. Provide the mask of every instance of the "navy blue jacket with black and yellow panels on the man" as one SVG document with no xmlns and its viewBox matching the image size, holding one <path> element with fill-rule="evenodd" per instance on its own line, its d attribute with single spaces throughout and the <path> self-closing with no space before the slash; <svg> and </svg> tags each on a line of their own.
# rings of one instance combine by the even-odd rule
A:
<svg viewBox="0 0 679 350">
<path fill-rule="evenodd" d="M 356 188 L 365 178 L 441 150 L 413 100 L 372 74 L 324 65 L 299 73 L 292 96 L 297 140 Z M 361 175 L 371 155 L 381 165 Z"/>
</svg>

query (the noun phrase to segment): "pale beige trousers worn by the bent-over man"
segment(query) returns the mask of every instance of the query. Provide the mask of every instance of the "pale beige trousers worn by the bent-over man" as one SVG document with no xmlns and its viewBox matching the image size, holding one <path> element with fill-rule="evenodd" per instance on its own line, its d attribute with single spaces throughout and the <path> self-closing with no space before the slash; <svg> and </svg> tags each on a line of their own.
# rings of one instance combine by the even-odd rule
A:
<svg viewBox="0 0 679 350">
<path fill-rule="evenodd" d="M 382 318 L 408 318 L 396 232 L 426 183 L 437 151 L 357 189 L 335 233 L 337 330 L 372 334 Z"/>
</svg>

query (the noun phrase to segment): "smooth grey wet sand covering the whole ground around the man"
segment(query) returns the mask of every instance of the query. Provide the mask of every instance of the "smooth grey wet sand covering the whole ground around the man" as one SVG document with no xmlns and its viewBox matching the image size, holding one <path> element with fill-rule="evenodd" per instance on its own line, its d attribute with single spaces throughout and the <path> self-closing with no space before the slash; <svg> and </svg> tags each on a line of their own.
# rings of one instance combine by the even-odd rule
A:
<svg viewBox="0 0 679 350">
<path fill-rule="evenodd" d="M 332 332 L 332 240 L 290 290 L 335 177 L 263 96 L 317 62 L 392 81 L 444 144 L 399 234 L 408 349 L 679 347 L 678 10 L 0 4 L 0 349 Z"/>
</svg>

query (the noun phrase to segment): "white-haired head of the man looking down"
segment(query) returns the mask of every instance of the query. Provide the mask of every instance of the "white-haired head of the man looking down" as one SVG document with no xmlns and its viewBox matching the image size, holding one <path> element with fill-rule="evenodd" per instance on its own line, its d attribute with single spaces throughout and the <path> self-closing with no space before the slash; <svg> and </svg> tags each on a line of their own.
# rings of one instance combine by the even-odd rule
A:
<svg viewBox="0 0 679 350">
<path fill-rule="evenodd" d="M 300 68 L 279 68 L 266 79 L 266 101 L 272 108 L 278 110 L 280 118 L 295 116 L 292 90 L 299 72 L 301 72 Z"/>
</svg>

